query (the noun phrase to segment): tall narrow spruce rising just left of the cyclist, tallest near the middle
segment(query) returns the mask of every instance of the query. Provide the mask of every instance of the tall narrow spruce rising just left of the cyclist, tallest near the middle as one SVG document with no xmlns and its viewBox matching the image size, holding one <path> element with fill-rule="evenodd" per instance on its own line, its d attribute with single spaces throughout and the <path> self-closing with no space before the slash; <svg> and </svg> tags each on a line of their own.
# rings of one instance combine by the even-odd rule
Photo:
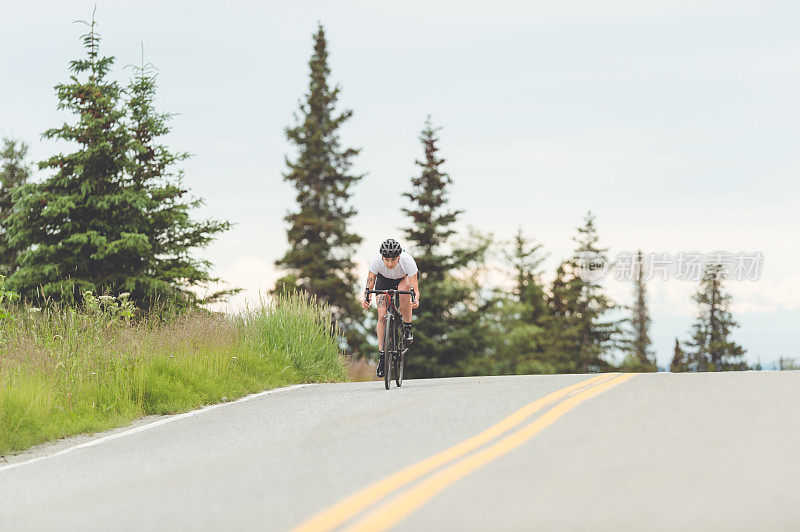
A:
<svg viewBox="0 0 800 532">
<path fill-rule="evenodd" d="M 351 345 L 361 310 L 356 300 L 353 255 L 361 237 L 348 225 L 356 214 L 350 206 L 352 186 L 363 176 L 351 171 L 359 150 L 344 148 L 339 128 L 352 111 L 335 112 L 339 87 L 328 82 L 328 49 L 325 31 L 318 26 L 314 52 L 309 61 L 309 89 L 296 114 L 297 124 L 286 136 L 297 148 L 294 160 L 286 159 L 284 180 L 297 190 L 298 210 L 289 213 L 289 250 L 276 261 L 286 271 L 277 290 L 299 289 L 331 307 Z"/>
</svg>

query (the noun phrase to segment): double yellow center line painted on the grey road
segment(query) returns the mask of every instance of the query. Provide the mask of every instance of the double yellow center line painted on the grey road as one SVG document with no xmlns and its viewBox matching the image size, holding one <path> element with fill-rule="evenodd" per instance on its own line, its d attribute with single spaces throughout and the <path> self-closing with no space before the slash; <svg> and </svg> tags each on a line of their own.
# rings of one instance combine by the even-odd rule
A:
<svg viewBox="0 0 800 532">
<path fill-rule="evenodd" d="M 633 378 L 631 374 L 598 375 L 537 399 L 483 432 L 354 493 L 342 502 L 301 524 L 293 532 L 325 532 L 332 530 L 353 518 L 362 510 L 430 471 L 458 460 L 401 495 L 379 506 L 346 529 L 347 532 L 385 530 L 401 521 L 450 484 L 465 477 L 487 462 L 516 449 L 582 402 L 631 378 Z M 564 400 L 561 401 L 562 399 Z M 558 401 L 561 402 L 530 424 L 491 446 L 459 460 L 459 458 L 503 435 L 533 414 Z"/>
</svg>

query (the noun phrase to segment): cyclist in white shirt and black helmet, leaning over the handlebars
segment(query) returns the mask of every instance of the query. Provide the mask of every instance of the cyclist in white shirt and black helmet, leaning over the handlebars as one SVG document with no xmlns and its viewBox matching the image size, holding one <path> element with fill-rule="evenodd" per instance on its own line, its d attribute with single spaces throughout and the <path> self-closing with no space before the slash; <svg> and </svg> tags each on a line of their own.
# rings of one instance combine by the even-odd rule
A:
<svg viewBox="0 0 800 532">
<path fill-rule="evenodd" d="M 403 290 L 414 289 L 415 301 L 412 303 L 408 294 L 400 295 L 400 314 L 403 316 L 403 339 L 407 344 L 414 341 L 411 331 L 411 309 L 419 306 L 419 278 L 417 263 L 404 251 L 400 244 L 389 238 L 380 247 L 380 255 L 369 262 L 366 290 Z M 370 295 L 364 292 L 362 306 L 369 308 Z M 388 297 L 378 297 L 378 377 L 383 377 L 383 330 L 386 326 L 386 306 Z"/>
</svg>

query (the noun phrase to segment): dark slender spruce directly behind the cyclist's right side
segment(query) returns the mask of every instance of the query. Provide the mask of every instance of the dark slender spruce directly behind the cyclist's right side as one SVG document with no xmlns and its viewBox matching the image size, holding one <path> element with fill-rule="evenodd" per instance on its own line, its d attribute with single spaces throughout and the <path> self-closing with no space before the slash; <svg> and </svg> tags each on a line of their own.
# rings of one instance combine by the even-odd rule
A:
<svg viewBox="0 0 800 532">
<path fill-rule="evenodd" d="M 443 170 L 437 128 L 430 117 L 419 137 L 424 157 L 415 161 L 420 174 L 411 179 L 411 192 L 403 194 L 410 206 L 402 211 L 411 220 L 403 229 L 406 245 L 419 268 L 420 307 L 414 312 L 414 353 L 407 371 L 414 377 L 443 377 L 475 373 L 486 351 L 482 314 L 489 303 L 468 276 L 454 274 L 480 264 L 488 241 L 475 235 L 473 242 L 456 246 L 451 241 L 461 214 L 448 207 L 450 176 Z"/>
</svg>

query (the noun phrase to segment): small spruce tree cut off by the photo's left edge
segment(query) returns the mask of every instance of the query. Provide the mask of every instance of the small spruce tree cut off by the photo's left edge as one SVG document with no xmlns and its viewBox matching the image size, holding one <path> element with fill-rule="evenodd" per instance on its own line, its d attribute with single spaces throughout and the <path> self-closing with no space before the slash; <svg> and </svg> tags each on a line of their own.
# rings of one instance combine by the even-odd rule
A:
<svg viewBox="0 0 800 532">
<path fill-rule="evenodd" d="M 17 251 L 8 242 L 8 218 L 14 210 L 14 189 L 27 183 L 31 175 L 27 155 L 27 144 L 16 139 L 3 139 L 0 151 L 0 275 L 6 277 L 17 270 Z"/>
</svg>

